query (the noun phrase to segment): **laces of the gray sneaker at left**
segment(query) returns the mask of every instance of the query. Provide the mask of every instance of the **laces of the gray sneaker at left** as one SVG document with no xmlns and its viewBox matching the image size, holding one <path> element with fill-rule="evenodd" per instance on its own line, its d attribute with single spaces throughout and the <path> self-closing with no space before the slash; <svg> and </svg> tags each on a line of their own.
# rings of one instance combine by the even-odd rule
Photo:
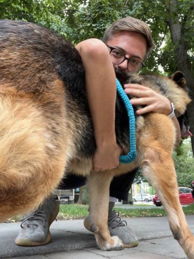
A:
<svg viewBox="0 0 194 259">
<path fill-rule="evenodd" d="M 37 209 L 36 211 L 34 211 L 31 214 L 29 214 L 27 217 L 23 218 L 21 220 L 22 223 L 20 224 L 20 226 L 21 226 L 21 228 L 24 228 L 23 224 L 26 221 L 40 220 L 40 221 L 43 222 L 43 226 L 45 227 L 46 219 L 47 219 L 47 211 Z M 27 224 L 27 227 L 29 227 L 30 225 L 38 226 L 38 224 L 29 223 L 29 224 Z"/>
</svg>

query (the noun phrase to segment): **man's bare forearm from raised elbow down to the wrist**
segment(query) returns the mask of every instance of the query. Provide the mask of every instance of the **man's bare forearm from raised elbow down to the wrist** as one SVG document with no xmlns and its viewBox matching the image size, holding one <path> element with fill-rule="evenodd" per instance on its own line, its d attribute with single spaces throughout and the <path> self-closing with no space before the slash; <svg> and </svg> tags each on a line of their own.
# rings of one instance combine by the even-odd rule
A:
<svg viewBox="0 0 194 259">
<path fill-rule="evenodd" d="M 86 74 L 86 91 L 97 146 L 115 141 L 116 81 L 107 47 L 96 39 L 76 46 Z"/>
</svg>

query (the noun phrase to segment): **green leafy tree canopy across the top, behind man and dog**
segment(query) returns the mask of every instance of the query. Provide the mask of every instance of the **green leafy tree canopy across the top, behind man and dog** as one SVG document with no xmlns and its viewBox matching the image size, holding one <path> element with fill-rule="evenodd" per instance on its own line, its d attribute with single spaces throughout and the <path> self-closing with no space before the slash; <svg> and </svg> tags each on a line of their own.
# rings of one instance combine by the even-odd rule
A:
<svg viewBox="0 0 194 259">
<path fill-rule="evenodd" d="M 178 0 L 181 40 L 190 53 L 194 70 L 194 1 Z M 174 14 L 175 17 L 176 14 Z M 147 71 L 165 73 L 177 69 L 176 44 L 172 43 L 167 22 L 170 19 L 166 0 L 0 0 L 0 18 L 23 19 L 40 23 L 74 44 L 95 37 L 102 38 L 105 29 L 116 19 L 132 16 L 147 22 L 152 30 L 155 49 L 146 60 Z M 161 48 L 161 44 L 163 47 Z"/>
</svg>

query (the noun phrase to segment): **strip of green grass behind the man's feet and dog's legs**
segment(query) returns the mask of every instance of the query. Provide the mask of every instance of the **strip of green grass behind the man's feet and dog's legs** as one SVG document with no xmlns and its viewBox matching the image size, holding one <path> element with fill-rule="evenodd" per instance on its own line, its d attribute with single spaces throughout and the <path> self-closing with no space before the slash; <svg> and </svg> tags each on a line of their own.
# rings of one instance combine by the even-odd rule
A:
<svg viewBox="0 0 194 259">
<path fill-rule="evenodd" d="M 127 205 L 126 205 L 127 206 Z M 133 205 L 134 206 L 134 205 Z M 136 217 L 162 217 L 166 216 L 166 212 L 163 208 L 120 208 L 116 207 L 115 209 L 119 212 L 119 215 L 123 218 L 136 218 Z M 185 215 L 194 215 L 194 205 L 183 207 Z M 75 219 L 84 219 L 88 215 L 88 206 L 87 205 L 60 205 L 59 214 L 57 216 L 58 220 L 75 220 Z M 9 222 L 18 222 L 21 220 L 21 217 L 15 217 Z"/>
</svg>

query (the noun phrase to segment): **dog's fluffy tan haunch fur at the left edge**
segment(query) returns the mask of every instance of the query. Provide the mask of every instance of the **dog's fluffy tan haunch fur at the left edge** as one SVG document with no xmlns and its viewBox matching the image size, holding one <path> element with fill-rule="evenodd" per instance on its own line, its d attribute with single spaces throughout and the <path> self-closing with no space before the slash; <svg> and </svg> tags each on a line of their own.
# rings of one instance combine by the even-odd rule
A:
<svg viewBox="0 0 194 259">
<path fill-rule="evenodd" d="M 27 95 L 0 90 L 0 222 L 38 207 L 63 177 L 63 143 L 46 123 Z"/>
</svg>

